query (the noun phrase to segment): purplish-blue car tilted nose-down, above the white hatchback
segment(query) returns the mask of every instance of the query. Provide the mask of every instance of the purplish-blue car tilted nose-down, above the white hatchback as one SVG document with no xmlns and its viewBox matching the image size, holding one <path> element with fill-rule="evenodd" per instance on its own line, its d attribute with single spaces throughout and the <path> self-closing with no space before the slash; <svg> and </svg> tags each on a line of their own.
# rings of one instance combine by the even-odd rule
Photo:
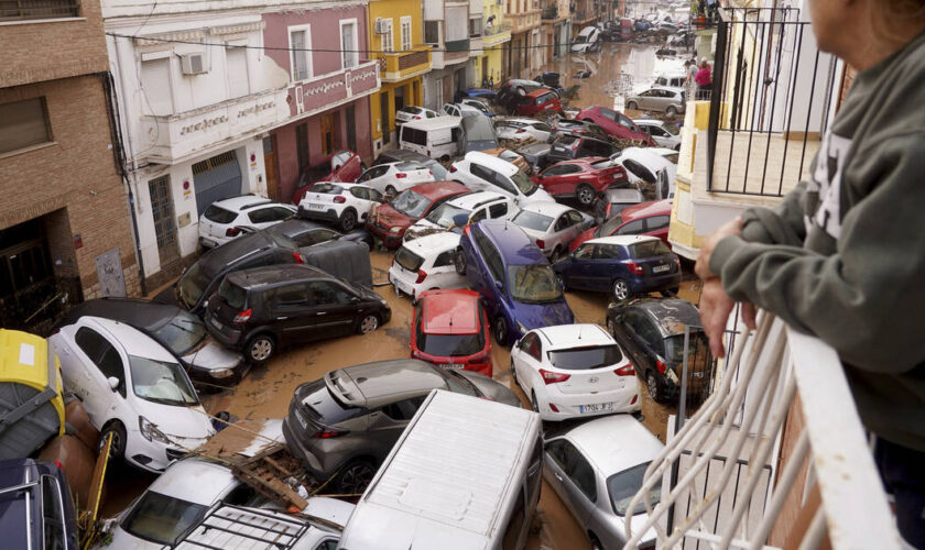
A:
<svg viewBox="0 0 925 550">
<path fill-rule="evenodd" d="M 466 226 L 456 251 L 456 271 L 485 297 L 499 344 L 575 316 L 549 262 L 519 227 L 503 220 Z"/>
</svg>

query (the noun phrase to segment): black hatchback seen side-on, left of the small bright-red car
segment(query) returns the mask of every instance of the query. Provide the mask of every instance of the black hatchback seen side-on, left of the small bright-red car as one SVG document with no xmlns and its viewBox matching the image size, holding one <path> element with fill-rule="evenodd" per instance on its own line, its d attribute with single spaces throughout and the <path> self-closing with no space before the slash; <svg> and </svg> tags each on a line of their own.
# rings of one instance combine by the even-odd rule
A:
<svg viewBox="0 0 925 550">
<path fill-rule="evenodd" d="M 218 341 L 262 363 L 281 346 L 372 332 L 392 310 L 371 289 L 318 268 L 273 265 L 225 277 L 205 317 Z"/>
</svg>

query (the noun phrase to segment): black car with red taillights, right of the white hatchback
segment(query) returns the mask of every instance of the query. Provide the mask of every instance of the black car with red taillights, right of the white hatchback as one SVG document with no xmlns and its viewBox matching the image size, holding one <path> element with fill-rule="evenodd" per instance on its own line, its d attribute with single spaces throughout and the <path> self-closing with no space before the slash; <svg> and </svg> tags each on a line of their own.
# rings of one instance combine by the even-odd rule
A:
<svg viewBox="0 0 925 550">
<path fill-rule="evenodd" d="M 700 327 L 700 312 L 679 298 L 640 299 L 611 304 L 607 329 L 629 354 L 656 402 L 677 397 L 684 364 L 684 328 L 689 327 L 687 348 L 687 396 L 700 400 L 709 394 L 712 358 Z"/>
</svg>

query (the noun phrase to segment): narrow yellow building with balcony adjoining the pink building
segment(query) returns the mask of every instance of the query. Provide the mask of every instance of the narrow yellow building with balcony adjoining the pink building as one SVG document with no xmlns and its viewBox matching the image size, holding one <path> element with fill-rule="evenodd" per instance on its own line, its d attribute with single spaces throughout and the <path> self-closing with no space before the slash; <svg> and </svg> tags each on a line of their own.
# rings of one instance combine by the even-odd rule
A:
<svg viewBox="0 0 925 550">
<path fill-rule="evenodd" d="M 421 0 L 371 0 L 367 16 L 371 59 L 379 62 L 382 87 L 370 96 L 373 154 L 393 148 L 395 111 L 424 105 L 423 75 L 431 70 L 424 44 Z"/>
</svg>

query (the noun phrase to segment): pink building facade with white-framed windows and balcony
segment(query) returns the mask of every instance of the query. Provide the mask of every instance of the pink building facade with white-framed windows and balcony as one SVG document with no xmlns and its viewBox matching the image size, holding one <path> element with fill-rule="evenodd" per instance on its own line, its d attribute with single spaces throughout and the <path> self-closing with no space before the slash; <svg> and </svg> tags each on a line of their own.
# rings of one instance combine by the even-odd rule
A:
<svg viewBox="0 0 925 550">
<path fill-rule="evenodd" d="M 379 65 L 366 59 L 366 3 L 312 4 L 263 15 L 266 55 L 289 73 L 290 122 L 264 140 L 268 191 L 291 200 L 300 175 L 349 148 L 372 161 L 369 96 L 380 88 Z M 342 52 L 341 52 L 342 51 Z"/>
</svg>

